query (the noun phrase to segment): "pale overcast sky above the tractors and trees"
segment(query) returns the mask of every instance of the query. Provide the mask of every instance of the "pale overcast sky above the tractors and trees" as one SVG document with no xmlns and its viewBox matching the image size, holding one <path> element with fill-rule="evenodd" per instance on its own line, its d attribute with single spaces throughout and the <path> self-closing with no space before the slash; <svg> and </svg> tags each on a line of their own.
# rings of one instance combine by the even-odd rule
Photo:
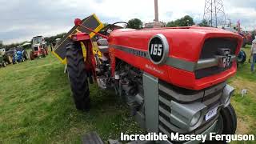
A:
<svg viewBox="0 0 256 144">
<path fill-rule="evenodd" d="M 226 18 L 241 21 L 246 30 L 256 27 L 255 0 L 223 0 Z M 169 22 L 189 14 L 203 18 L 204 0 L 158 0 L 159 19 Z M 4 44 L 67 32 L 74 18 L 97 14 L 102 22 L 154 19 L 154 0 L 0 0 L 0 40 Z"/>
</svg>

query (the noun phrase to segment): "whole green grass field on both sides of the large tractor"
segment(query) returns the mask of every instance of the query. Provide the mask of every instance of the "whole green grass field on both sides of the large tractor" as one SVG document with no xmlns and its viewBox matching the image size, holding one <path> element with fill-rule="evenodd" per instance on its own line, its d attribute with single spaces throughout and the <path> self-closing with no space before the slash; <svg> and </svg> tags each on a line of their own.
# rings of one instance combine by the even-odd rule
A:
<svg viewBox="0 0 256 144">
<path fill-rule="evenodd" d="M 90 131 L 104 140 L 120 132 L 142 133 L 118 97 L 94 85 L 92 110 L 76 110 L 63 68 L 53 55 L 0 68 L 0 143 L 79 143 Z M 232 100 L 237 133 L 256 134 L 256 74 L 250 74 L 250 64 L 240 66 L 229 82 L 237 89 Z M 243 88 L 249 90 L 244 98 Z"/>
</svg>

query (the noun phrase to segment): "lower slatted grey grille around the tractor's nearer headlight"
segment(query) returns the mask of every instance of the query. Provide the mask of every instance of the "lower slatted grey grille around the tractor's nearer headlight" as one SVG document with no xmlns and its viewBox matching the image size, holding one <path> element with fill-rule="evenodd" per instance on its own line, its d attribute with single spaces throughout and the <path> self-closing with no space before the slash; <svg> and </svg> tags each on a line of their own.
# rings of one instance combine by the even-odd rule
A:
<svg viewBox="0 0 256 144">
<path fill-rule="evenodd" d="M 214 116 L 214 118 L 211 118 L 206 122 L 206 120 L 203 120 L 202 125 L 199 126 L 196 130 L 186 132 L 185 130 L 182 130 L 178 126 L 175 125 L 175 123 L 170 122 L 170 102 L 175 101 L 183 104 L 188 104 L 192 102 L 202 102 L 207 106 L 207 109 L 210 110 L 214 108 L 215 106 L 218 106 L 221 104 L 220 98 L 222 97 L 222 91 L 224 89 L 224 86 L 226 86 L 226 82 L 223 82 L 221 84 L 218 84 L 216 86 L 212 86 L 210 88 L 207 88 L 205 90 L 186 90 L 182 88 L 178 88 L 176 86 L 171 86 L 170 84 L 167 84 L 166 82 L 159 82 L 158 84 L 158 94 L 159 94 L 159 119 L 158 119 L 158 130 L 162 134 L 167 134 L 170 137 L 170 134 L 172 132 L 178 132 L 180 134 L 202 134 L 203 131 L 208 129 L 212 124 L 217 120 L 218 114 Z M 182 93 L 181 93 L 182 92 Z M 174 94 L 178 94 L 174 95 Z M 184 97 L 184 100 L 182 100 L 182 97 Z M 190 98 L 190 101 L 187 101 L 186 97 L 193 97 Z M 207 110 L 207 111 L 208 111 Z M 219 112 L 219 110 L 218 110 Z M 173 142 L 173 143 L 180 143 L 180 142 Z"/>
</svg>

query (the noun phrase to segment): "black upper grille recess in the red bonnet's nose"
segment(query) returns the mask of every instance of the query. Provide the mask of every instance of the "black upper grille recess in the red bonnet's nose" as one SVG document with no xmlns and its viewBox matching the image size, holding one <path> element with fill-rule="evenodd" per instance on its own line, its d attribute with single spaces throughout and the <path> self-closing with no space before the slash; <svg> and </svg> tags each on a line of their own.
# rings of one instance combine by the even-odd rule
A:
<svg viewBox="0 0 256 144">
<path fill-rule="evenodd" d="M 235 50 L 238 46 L 238 42 L 235 39 L 230 38 L 210 38 L 207 39 L 204 46 L 202 47 L 200 60 L 215 58 L 215 55 L 218 55 L 218 49 L 230 49 L 230 54 L 234 55 Z M 220 68 L 218 66 L 209 67 L 202 70 L 195 71 L 195 77 L 197 79 L 205 78 L 210 75 L 219 74 L 225 70 L 228 70 L 232 67 L 232 62 L 229 67 Z"/>
</svg>

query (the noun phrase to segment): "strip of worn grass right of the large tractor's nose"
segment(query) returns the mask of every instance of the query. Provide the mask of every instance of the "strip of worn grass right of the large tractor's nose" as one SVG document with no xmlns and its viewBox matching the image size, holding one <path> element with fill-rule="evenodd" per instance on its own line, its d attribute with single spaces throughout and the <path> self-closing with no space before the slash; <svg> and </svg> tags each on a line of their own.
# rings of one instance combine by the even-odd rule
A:
<svg viewBox="0 0 256 144">
<path fill-rule="evenodd" d="M 238 73 L 230 79 L 230 85 L 235 87 L 235 94 L 232 98 L 232 105 L 238 117 L 237 134 L 256 135 L 256 73 L 250 72 L 250 46 L 242 50 L 246 51 L 247 60 L 238 67 Z M 241 90 L 246 89 L 246 96 L 242 97 Z M 234 142 L 234 143 L 255 143 L 255 142 Z"/>
</svg>

